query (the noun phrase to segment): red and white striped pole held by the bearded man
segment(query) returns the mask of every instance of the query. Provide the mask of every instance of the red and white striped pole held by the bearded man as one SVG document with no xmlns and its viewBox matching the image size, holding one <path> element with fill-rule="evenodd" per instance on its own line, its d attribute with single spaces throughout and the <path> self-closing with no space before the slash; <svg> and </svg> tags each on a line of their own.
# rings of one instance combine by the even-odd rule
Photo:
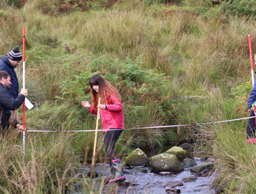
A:
<svg viewBox="0 0 256 194">
<path fill-rule="evenodd" d="M 23 27 L 23 89 L 26 89 L 25 87 L 25 27 Z M 25 100 L 23 102 L 23 128 L 25 129 Z M 23 130 L 23 152 L 25 152 L 25 145 L 26 145 L 26 132 Z"/>
</svg>

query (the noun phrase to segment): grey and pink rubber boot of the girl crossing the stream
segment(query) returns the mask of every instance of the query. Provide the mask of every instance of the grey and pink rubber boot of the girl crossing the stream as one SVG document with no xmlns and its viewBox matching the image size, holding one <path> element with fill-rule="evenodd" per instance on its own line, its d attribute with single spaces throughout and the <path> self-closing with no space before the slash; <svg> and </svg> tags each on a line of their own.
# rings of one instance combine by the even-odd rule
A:
<svg viewBox="0 0 256 194">
<path fill-rule="evenodd" d="M 125 181 L 125 175 L 123 173 L 123 166 L 120 159 L 113 158 L 110 161 L 110 169 L 113 175 L 109 182 L 122 182 Z"/>
</svg>

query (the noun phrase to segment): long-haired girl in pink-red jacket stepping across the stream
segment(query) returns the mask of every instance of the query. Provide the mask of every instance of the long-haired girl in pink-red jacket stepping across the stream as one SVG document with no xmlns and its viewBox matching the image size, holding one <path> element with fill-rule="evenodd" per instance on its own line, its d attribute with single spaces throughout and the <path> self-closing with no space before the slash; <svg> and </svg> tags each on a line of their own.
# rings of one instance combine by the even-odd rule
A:
<svg viewBox="0 0 256 194">
<path fill-rule="evenodd" d="M 106 155 L 111 159 L 110 168 L 113 179 L 109 182 L 123 181 L 125 175 L 122 172 L 122 163 L 114 150 L 115 142 L 125 128 L 121 97 L 117 89 L 99 75 L 90 78 L 90 94 L 92 105 L 88 101 L 82 101 L 81 104 L 83 107 L 88 107 L 93 114 L 97 114 L 97 108 L 99 108 L 104 130 Z M 101 98 L 101 105 L 97 105 L 99 97 Z"/>
</svg>

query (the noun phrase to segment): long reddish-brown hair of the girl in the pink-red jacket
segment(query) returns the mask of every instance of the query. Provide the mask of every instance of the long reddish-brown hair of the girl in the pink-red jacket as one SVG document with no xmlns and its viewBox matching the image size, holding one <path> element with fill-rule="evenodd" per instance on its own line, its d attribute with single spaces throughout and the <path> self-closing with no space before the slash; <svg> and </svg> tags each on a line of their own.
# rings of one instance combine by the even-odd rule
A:
<svg viewBox="0 0 256 194">
<path fill-rule="evenodd" d="M 118 98 L 118 100 L 121 101 L 121 97 L 118 93 L 118 90 L 115 89 L 110 82 L 102 78 L 102 76 L 95 75 L 90 78 L 90 96 L 92 98 L 92 104 L 95 109 L 97 109 L 98 105 L 98 99 L 101 98 L 101 104 L 107 105 L 108 103 L 111 103 L 111 95 Z M 99 91 L 96 92 L 93 89 L 93 85 L 99 86 Z"/>
</svg>

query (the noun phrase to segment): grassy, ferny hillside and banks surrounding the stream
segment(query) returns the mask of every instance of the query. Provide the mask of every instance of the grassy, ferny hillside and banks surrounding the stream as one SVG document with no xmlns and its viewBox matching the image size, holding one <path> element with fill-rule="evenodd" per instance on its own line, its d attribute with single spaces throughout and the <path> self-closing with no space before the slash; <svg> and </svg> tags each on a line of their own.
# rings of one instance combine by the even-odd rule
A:
<svg viewBox="0 0 256 194">
<path fill-rule="evenodd" d="M 248 116 L 254 3 L 1 1 L 1 55 L 15 45 L 22 50 L 26 27 L 26 87 L 35 105 L 26 111 L 26 128 L 58 133 L 26 132 L 25 155 L 21 134 L 1 140 L 0 192 L 72 190 L 79 166 L 91 158 L 94 133 L 67 131 L 95 128 L 81 100 L 90 101 L 88 80 L 98 73 L 120 91 L 127 129 Z M 21 87 L 22 67 L 16 71 Z M 253 193 L 255 145 L 246 144 L 246 122 L 125 130 L 117 150 L 124 157 L 141 148 L 150 156 L 197 143 L 218 159 L 216 183 L 226 193 Z M 98 139 L 97 155 L 104 154 L 102 133 Z M 83 186 L 91 189 L 87 179 Z"/>
</svg>

